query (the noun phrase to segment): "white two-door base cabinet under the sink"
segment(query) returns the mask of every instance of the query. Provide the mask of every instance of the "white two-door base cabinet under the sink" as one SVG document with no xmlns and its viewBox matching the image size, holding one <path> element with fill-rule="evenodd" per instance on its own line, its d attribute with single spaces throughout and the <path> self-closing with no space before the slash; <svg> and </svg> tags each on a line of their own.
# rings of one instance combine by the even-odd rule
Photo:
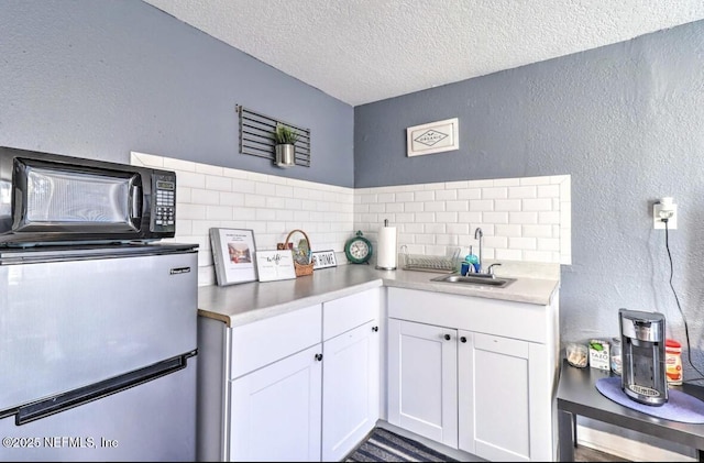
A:
<svg viewBox="0 0 704 463">
<path fill-rule="evenodd" d="M 549 306 L 388 291 L 388 421 L 491 461 L 553 461 Z"/>
</svg>

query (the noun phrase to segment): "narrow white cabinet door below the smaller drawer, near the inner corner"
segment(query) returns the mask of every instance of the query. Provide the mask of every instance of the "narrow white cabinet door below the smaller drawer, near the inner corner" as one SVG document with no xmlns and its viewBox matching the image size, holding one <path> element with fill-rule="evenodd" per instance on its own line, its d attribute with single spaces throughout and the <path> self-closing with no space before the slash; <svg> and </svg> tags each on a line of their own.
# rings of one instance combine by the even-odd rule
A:
<svg viewBox="0 0 704 463">
<path fill-rule="evenodd" d="M 341 461 L 378 419 L 376 320 L 322 344 L 322 461 Z"/>
</svg>

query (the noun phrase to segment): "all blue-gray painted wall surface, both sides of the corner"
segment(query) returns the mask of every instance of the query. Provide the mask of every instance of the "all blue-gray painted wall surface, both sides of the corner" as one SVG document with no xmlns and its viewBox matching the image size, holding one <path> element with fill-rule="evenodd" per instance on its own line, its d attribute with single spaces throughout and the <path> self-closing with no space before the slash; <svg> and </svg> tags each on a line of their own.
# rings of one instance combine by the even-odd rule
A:
<svg viewBox="0 0 704 463">
<path fill-rule="evenodd" d="M 673 196 L 672 286 L 704 346 L 704 22 L 356 108 L 140 0 L 2 0 L 0 37 L 0 145 L 345 187 L 571 175 L 563 340 L 617 334 L 626 307 L 684 342 L 651 217 Z M 311 167 L 239 154 L 235 104 L 309 128 Z M 454 117 L 459 151 L 406 157 L 406 128 Z"/>
</svg>

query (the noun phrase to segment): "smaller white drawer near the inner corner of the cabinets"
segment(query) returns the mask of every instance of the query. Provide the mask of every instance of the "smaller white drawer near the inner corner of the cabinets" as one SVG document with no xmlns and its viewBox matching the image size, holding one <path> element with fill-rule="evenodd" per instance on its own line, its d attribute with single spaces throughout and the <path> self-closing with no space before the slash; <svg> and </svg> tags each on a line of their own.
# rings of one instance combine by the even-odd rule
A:
<svg viewBox="0 0 704 463">
<path fill-rule="evenodd" d="M 329 340 L 378 318 L 380 289 L 341 297 L 322 305 L 322 339 Z"/>
</svg>

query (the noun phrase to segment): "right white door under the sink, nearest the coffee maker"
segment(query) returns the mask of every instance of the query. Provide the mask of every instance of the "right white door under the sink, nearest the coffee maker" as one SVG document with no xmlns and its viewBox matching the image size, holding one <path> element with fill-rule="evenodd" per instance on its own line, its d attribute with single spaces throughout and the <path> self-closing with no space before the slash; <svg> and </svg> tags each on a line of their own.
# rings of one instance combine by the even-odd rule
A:
<svg viewBox="0 0 704 463">
<path fill-rule="evenodd" d="M 460 331 L 460 449 L 491 461 L 551 460 L 532 448 L 531 353 L 526 341 Z M 466 340 L 466 342 L 462 342 Z M 544 392 L 550 396 L 550 392 Z"/>
</svg>

